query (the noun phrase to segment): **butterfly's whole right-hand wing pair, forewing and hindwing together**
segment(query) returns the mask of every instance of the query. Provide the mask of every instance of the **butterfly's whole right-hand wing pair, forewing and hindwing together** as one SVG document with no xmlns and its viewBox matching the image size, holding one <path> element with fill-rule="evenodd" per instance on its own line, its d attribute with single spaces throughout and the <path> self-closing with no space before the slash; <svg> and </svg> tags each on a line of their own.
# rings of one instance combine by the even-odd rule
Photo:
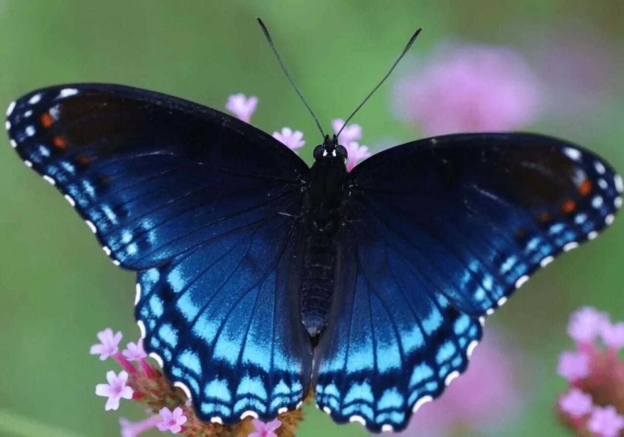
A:
<svg viewBox="0 0 624 437">
<path fill-rule="evenodd" d="M 485 315 L 532 272 L 597 236 L 622 178 L 570 143 L 449 135 L 383 151 L 350 174 L 344 277 L 315 351 L 319 406 L 402 430 L 463 372 Z"/>
</svg>

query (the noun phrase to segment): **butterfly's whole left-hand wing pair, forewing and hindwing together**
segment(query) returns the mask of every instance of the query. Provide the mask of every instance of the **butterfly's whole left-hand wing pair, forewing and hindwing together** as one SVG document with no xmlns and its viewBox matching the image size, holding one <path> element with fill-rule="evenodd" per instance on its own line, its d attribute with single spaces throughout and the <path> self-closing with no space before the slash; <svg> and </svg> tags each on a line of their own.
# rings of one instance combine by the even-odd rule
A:
<svg viewBox="0 0 624 437">
<path fill-rule="evenodd" d="M 139 271 L 145 348 L 205 420 L 274 418 L 310 383 L 295 216 L 308 167 L 210 108 L 117 85 L 37 90 L 11 145 Z"/>
</svg>

